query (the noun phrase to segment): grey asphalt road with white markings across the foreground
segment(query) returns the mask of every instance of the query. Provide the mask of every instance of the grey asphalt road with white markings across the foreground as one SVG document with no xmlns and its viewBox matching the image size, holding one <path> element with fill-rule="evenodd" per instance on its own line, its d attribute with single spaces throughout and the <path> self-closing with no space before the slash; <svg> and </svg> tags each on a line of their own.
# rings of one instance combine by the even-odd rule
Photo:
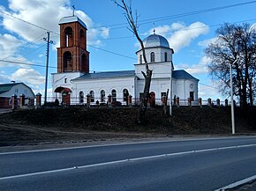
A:
<svg viewBox="0 0 256 191">
<path fill-rule="evenodd" d="M 1 191 L 207 191 L 256 174 L 256 137 L 0 153 Z"/>
</svg>

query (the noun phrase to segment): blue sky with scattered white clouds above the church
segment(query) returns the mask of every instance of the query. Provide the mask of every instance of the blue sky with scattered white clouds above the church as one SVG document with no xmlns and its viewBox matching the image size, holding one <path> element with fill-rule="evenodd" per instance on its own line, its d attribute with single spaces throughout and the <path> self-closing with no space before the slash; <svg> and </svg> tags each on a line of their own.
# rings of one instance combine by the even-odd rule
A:
<svg viewBox="0 0 256 191">
<path fill-rule="evenodd" d="M 44 93 L 46 42 L 43 38 L 49 30 L 55 42 L 49 52 L 48 92 L 51 94 L 50 73 L 56 72 L 59 44 L 58 21 L 72 15 L 73 4 L 75 14 L 87 24 L 90 70 L 133 70 L 138 42 L 127 29 L 123 11 L 111 0 L 2 0 L 0 84 L 15 80 L 30 85 L 34 93 Z M 218 92 L 217 82 L 208 76 L 210 60 L 204 49 L 215 39 L 215 30 L 224 22 L 256 23 L 256 1 L 133 0 L 132 8 L 139 15 L 141 38 L 146 38 L 155 28 L 157 34 L 169 40 L 170 48 L 175 51 L 175 70 L 186 70 L 200 79 L 202 99 L 228 97 Z"/>
</svg>

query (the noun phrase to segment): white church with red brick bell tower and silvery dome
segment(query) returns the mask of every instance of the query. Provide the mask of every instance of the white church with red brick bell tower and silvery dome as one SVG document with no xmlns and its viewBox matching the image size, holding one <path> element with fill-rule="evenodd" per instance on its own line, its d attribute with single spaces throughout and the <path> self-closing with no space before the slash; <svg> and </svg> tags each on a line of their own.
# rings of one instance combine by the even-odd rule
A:
<svg viewBox="0 0 256 191">
<path fill-rule="evenodd" d="M 146 70 L 142 50 L 136 52 L 138 62 L 134 70 L 89 72 L 87 51 L 87 26 L 77 16 L 64 17 L 59 21 L 60 48 L 57 48 L 57 73 L 52 74 L 54 96 L 66 105 L 111 102 L 139 104 L 144 91 Z M 150 86 L 150 105 L 162 105 L 162 97 L 169 92 L 168 105 L 174 98 L 185 101 L 190 98 L 197 104 L 199 79 L 184 70 L 174 70 L 169 42 L 161 35 L 151 34 L 143 40 L 150 70 L 153 70 Z M 169 90 L 169 91 L 168 91 Z M 109 96 L 110 95 L 110 96 Z M 182 101 L 181 101 L 182 102 Z"/>
</svg>

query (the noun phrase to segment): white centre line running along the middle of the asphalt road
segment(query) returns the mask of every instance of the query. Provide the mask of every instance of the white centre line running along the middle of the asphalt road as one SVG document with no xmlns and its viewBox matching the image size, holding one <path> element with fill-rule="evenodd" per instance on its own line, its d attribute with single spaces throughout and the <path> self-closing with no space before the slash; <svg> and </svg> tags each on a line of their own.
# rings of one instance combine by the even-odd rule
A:
<svg viewBox="0 0 256 191">
<path fill-rule="evenodd" d="M 72 171 L 72 170 L 77 170 L 77 169 L 82 169 L 82 168 L 90 168 L 90 167 L 102 166 L 102 165 L 115 165 L 115 164 L 119 164 L 119 163 L 127 163 L 130 161 L 146 160 L 146 159 L 150 159 L 150 158 L 166 158 L 166 157 L 171 157 L 171 156 L 178 156 L 178 155 L 185 155 L 185 154 L 192 154 L 192 153 L 199 153 L 199 152 L 230 150 L 230 149 L 254 147 L 254 146 L 256 146 L 256 144 L 246 144 L 246 145 L 221 147 L 221 148 L 196 150 L 196 151 L 174 152 L 174 153 L 153 155 L 153 156 L 147 156 L 147 157 L 141 157 L 141 158 L 129 158 L 129 159 L 116 160 L 116 161 L 110 161 L 110 162 L 98 163 L 98 164 L 92 164 L 92 165 L 80 165 L 80 166 L 74 166 L 71 168 L 56 169 L 56 170 L 44 171 L 44 172 L 38 172 L 38 173 L 26 173 L 26 174 L 19 174 L 19 175 L 13 175 L 13 176 L 6 176 L 6 177 L 1 177 L 0 180 L 11 180 L 11 179 L 17 179 L 17 178 L 28 177 L 28 176 L 42 175 L 42 174 L 47 174 L 47 173 L 61 173 L 61 172 L 65 172 L 65 171 Z"/>
</svg>

